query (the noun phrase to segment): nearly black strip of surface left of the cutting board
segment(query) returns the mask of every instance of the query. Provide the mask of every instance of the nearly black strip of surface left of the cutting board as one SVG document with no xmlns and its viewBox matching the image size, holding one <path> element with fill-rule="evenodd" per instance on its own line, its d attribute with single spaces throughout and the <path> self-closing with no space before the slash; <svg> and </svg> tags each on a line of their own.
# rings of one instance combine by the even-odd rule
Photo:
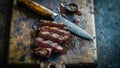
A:
<svg viewBox="0 0 120 68">
<path fill-rule="evenodd" d="M 7 64 L 11 2 L 0 0 L 0 68 L 6 68 Z"/>
</svg>

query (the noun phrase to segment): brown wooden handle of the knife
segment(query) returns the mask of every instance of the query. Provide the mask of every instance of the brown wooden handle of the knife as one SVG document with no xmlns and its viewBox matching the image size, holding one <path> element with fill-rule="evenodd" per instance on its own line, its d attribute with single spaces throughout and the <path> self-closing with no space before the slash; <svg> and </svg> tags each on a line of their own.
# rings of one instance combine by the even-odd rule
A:
<svg viewBox="0 0 120 68">
<path fill-rule="evenodd" d="M 45 8 L 44 6 L 34 2 L 33 0 L 18 0 L 18 2 L 42 16 L 51 17 L 54 13 L 53 11 Z"/>
</svg>

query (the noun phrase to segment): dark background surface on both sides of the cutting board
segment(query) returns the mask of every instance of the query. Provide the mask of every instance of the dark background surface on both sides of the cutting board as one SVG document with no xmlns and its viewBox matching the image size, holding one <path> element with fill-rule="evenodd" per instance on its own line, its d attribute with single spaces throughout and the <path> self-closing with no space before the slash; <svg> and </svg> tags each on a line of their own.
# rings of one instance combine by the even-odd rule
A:
<svg viewBox="0 0 120 68">
<path fill-rule="evenodd" d="M 98 68 L 120 68 L 120 0 L 94 0 Z M 0 68 L 6 68 L 11 0 L 0 0 Z"/>
</svg>

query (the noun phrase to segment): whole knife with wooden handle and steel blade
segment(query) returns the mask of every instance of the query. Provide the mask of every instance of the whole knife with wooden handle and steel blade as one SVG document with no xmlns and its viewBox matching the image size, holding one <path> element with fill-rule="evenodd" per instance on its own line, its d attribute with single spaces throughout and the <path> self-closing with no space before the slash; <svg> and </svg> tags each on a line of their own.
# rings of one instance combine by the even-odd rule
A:
<svg viewBox="0 0 120 68">
<path fill-rule="evenodd" d="M 88 40 L 94 39 L 89 33 L 87 33 L 85 30 L 83 30 L 79 26 L 63 18 L 57 13 L 47 9 L 46 7 L 40 5 L 39 3 L 34 2 L 33 0 L 18 0 L 18 3 L 25 5 L 26 7 L 28 7 L 29 9 L 33 10 L 34 12 L 40 15 L 51 17 L 52 19 L 54 19 L 54 21 L 64 23 L 67 26 L 67 30 L 69 30 L 70 32 L 74 33 L 79 37 L 82 37 Z"/>
</svg>

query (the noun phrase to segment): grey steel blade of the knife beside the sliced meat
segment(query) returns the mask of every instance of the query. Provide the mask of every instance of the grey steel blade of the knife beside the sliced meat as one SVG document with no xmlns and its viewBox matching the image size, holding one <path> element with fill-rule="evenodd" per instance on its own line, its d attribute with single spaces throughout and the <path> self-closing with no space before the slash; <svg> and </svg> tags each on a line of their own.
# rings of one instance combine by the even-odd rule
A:
<svg viewBox="0 0 120 68">
<path fill-rule="evenodd" d="M 67 19 L 65 19 L 61 16 L 56 16 L 54 21 L 64 23 L 67 26 L 67 30 L 73 32 L 78 37 L 82 37 L 82 38 L 85 38 L 85 39 L 88 39 L 88 40 L 93 40 L 94 39 L 90 34 L 88 34 L 86 31 L 81 29 L 79 26 L 75 25 L 74 23 L 68 21 Z"/>
</svg>

